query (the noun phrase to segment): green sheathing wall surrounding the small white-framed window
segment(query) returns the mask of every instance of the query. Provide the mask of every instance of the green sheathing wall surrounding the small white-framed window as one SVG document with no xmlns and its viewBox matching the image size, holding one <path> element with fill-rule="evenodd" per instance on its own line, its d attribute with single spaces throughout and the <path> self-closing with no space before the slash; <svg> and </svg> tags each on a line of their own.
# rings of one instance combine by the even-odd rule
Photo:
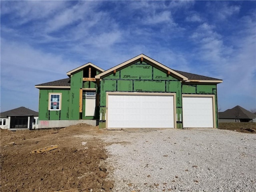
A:
<svg viewBox="0 0 256 192">
<path fill-rule="evenodd" d="M 48 110 L 49 93 L 61 93 L 61 110 Z M 39 90 L 39 120 L 69 120 L 70 90 Z"/>
</svg>

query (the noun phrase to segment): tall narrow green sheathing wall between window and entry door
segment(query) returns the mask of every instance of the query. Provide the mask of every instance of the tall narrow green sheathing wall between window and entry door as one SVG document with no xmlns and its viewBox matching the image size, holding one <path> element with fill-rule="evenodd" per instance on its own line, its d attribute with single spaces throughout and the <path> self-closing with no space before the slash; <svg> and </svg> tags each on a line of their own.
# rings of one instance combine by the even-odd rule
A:
<svg viewBox="0 0 256 192">
<path fill-rule="evenodd" d="M 83 71 L 72 74 L 70 80 L 70 120 L 79 120 L 80 88 L 83 87 Z"/>
</svg>

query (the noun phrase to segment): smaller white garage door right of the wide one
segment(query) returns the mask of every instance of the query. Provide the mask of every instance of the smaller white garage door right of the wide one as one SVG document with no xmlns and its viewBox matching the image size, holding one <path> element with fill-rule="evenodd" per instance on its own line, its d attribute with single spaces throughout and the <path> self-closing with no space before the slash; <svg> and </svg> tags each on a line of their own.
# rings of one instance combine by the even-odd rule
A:
<svg viewBox="0 0 256 192">
<path fill-rule="evenodd" d="M 183 127 L 214 127 L 213 97 L 182 97 Z"/>
</svg>

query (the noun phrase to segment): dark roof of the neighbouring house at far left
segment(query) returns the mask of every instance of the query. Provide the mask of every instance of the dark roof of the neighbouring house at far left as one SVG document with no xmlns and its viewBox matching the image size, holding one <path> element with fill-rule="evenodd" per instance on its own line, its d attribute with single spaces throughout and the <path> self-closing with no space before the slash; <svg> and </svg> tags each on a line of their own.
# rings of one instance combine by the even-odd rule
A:
<svg viewBox="0 0 256 192">
<path fill-rule="evenodd" d="M 19 107 L 9 111 L 1 112 L 1 118 L 7 118 L 7 116 L 38 116 L 38 112 L 30 110 L 26 107 Z"/>
</svg>

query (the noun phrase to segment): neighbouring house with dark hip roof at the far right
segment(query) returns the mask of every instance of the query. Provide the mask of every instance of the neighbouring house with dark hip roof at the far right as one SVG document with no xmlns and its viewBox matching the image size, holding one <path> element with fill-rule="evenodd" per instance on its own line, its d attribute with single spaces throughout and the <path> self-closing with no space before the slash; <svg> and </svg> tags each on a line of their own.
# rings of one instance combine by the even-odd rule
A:
<svg viewBox="0 0 256 192">
<path fill-rule="evenodd" d="M 219 112 L 219 122 L 256 122 L 256 114 L 235 106 L 224 112 Z"/>
</svg>

